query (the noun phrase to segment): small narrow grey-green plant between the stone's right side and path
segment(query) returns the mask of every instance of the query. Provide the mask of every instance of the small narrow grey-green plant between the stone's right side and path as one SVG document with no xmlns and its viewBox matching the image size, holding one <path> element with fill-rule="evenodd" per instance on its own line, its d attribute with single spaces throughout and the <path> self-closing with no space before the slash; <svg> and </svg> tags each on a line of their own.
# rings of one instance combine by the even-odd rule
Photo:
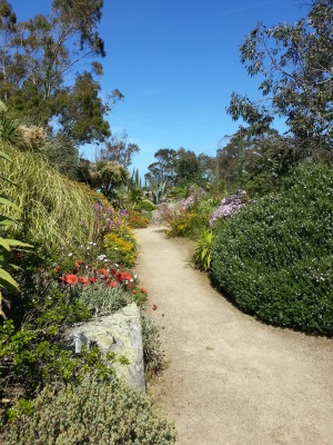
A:
<svg viewBox="0 0 333 445">
<path fill-rule="evenodd" d="M 143 358 L 147 373 L 157 374 L 163 366 L 159 326 L 151 317 L 141 317 Z"/>
</svg>

